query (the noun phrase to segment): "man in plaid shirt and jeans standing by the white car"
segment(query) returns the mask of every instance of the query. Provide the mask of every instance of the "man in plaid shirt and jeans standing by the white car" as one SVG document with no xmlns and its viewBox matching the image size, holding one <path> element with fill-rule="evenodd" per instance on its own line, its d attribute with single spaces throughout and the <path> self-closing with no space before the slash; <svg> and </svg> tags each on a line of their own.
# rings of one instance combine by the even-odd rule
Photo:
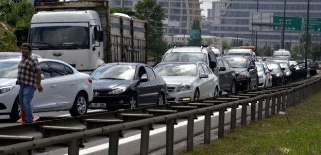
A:
<svg viewBox="0 0 321 155">
<path fill-rule="evenodd" d="M 43 91 L 41 86 L 41 71 L 38 59 L 31 54 L 31 46 L 28 43 L 21 45 L 22 58 L 18 66 L 18 79 L 16 84 L 20 85 L 19 103 L 22 105 L 22 116 L 26 116 L 25 123 L 33 123 L 33 112 L 31 100 L 38 89 Z M 22 117 L 22 121 L 24 118 Z"/>
</svg>

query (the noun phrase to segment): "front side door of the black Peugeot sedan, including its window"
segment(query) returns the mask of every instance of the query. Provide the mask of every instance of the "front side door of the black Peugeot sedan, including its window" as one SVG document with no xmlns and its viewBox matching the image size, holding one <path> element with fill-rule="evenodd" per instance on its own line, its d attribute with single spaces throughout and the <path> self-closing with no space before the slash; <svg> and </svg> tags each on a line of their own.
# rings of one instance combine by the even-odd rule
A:
<svg viewBox="0 0 321 155">
<path fill-rule="evenodd" d="M 138 66 L 136 68 L 136 79 L 147 78 L 147 72 L 144 66 Z M 151 90 L 149 80 L 146 82 L 137 82 L 136 91 L 138 96 L 138 106 L 146 103 L 151 103 Z"/>
</svg>

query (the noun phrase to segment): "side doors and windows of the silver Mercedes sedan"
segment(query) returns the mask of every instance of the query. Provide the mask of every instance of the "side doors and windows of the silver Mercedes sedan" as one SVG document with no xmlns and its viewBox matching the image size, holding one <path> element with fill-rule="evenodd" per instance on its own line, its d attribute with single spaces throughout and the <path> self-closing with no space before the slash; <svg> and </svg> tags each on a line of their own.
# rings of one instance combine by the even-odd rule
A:
<svg viewBox="0 0 321 155">
<path fill-rule="evenodd" d="M 214 94 L 215 91 L 215 84 L 214 84 L 214 76 L 215 74 L 213 74 L 212 72 L 210 72 L 208 69 L 208 66 L 204 63 L 201 63 L 205 74 L 208 75 L 208 78 L 204 78 L 204 80 L 206 79 L 205 82 L 205 89 L 207 90 L 207 92 L 205 93 L 204 98 L 210 98 L 212 97 L 212 94 Z"/>
</svg>

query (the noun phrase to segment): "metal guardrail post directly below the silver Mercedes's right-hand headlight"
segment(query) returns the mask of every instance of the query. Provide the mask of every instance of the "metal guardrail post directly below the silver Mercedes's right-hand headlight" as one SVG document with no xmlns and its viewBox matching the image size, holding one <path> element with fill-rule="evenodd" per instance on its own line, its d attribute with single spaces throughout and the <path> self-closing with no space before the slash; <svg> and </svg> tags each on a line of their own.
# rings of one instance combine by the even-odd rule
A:
<svg viewBox="0 0 321 155">
<path fill-rule="evenodd" d="M 189 115 L 187 117 L 187 142 L 186 142 L 186 151 L 193 150 L 194 142 L 194 118 L 195 116 Z"/>
</svg>

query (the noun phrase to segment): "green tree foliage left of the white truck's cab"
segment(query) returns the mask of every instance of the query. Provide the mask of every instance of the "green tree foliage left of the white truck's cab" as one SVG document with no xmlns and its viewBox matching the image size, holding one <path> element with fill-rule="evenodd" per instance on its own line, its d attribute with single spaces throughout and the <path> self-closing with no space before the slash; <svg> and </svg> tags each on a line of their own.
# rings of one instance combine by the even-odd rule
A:
<svg viewBox="0 0 321 155">
<path fill-rule="evenodd" d="M 18 51 L 14 32 L 30 23 L 33 12 L 27 0 L 0 0 L 0 52 Z"/>
</svg>

